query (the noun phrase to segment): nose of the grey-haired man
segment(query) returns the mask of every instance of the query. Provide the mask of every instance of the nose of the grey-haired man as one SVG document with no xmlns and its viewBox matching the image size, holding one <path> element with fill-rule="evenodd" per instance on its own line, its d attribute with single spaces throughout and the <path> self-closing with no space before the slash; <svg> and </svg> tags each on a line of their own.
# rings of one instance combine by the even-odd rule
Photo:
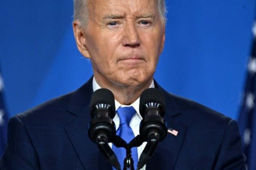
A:
<svg viewBox="0 0 256 170">
<path fill-rule="evenodd" d="M 140 45 L 138 28 L 135 23 L 127 23 L 124 28 L 123 46 L 136 47 Z"/>
</svg>

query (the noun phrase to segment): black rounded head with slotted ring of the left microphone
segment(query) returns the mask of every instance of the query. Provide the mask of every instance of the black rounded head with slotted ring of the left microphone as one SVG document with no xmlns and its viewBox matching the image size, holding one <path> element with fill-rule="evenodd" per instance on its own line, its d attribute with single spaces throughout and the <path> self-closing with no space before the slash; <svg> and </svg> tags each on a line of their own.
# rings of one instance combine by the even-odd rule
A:
<svg viewBox="0 0 256 170">
<path fill-rule="evenodd" d="M 104 105 L 107 104 L 107 105 Z M 90 111 L 91 113 L 94 112 L 95 106 L 98 105 L 110 111 L 110 118 L 113 119 L 115 116 L 115 97 L 112 91 L 106 88 L 100 88 L 91 96 L 91 104 L 90 104 Z M 93 116 L 92 116 L 93 117 Z"/>
</svg>

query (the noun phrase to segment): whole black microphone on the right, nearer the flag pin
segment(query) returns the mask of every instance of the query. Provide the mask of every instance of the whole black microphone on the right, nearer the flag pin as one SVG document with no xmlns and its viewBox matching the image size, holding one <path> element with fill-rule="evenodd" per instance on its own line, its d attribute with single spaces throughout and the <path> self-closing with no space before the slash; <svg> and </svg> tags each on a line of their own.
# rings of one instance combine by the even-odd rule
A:
<svg viewBox="0 0 256 170">
<path fill-rule="evenodd" d="M 141 169 L 154 154 L 158 143 L 167 134 L 167 128 L 163 116 L 165 114 L 165 97 L 162 91 L 156 88 L 148 88 L 140 96 L 140 135 L 144 142 L 148 142 L 141 153 L 137 170 Z"/>
</svg>

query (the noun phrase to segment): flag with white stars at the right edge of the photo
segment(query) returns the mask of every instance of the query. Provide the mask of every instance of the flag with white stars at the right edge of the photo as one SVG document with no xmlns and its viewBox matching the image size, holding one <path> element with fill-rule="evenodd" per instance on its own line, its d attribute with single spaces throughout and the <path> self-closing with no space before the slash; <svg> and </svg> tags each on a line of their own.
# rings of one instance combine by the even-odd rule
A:
<svg viewBox="0 0 256 170">
<path fill-rule="evenodd" d="M 253 27 L 253 45 L 248 62 L 243 104 L 239 115 L 239 129 L 243 151 L 247 157 L 247 169 L 256 170 L 256 21 Z"/>
</svg>

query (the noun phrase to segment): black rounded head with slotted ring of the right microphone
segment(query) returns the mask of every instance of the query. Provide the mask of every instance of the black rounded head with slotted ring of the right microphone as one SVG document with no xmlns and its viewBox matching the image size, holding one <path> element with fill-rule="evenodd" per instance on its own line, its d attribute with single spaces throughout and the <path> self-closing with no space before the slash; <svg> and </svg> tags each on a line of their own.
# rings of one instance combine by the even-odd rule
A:
<svg viewBox="0 0 256 170">
<path fill-rule="evenodd" d="M 156 107 L 159 109 L 161 116 L 165 114 L 165 96 L 162 91 L 157 88 L 148 88 L 144 90 L 140 96 L 140 114 L 144 118 L 145 110 L 148 107 Z"/>
</svg>

